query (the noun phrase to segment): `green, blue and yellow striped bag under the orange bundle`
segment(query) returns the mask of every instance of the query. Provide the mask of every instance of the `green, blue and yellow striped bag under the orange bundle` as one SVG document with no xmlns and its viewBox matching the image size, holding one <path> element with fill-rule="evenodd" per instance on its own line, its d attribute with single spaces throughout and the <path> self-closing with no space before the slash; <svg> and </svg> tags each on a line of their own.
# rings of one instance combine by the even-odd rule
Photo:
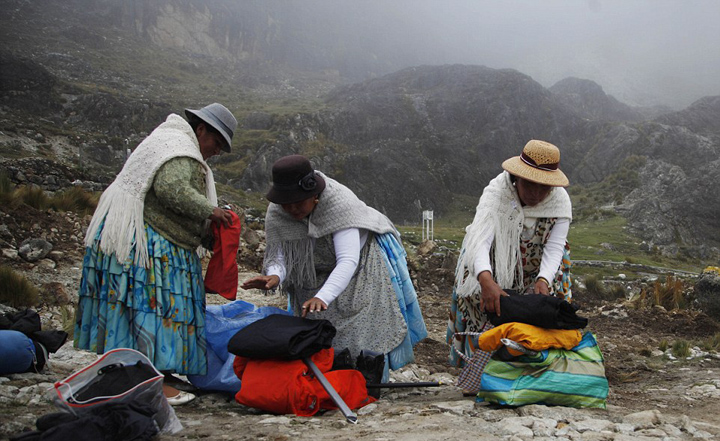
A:
<svg viewBox="0 0 720 441">
<path fill-rule="evenodd" d="M 570 351 L 546 349 L 511 361 L 493 356 L 483 371 L 477 401 L 604 409 L 607 396 L 603 356 L 588 331 Z"/>
</svg>

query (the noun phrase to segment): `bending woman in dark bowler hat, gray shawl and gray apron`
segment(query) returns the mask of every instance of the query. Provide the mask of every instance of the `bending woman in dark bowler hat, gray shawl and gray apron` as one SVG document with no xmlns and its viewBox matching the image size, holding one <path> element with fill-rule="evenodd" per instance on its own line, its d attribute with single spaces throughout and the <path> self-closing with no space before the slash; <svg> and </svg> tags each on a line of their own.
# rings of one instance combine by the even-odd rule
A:
<svg viewBox="0 0 720 441">
<path fill-rule="evenodd" d="M 295 315 L 327 319 L 333 346 L 388 354 L 390 369 L 413 361 L 427 336 L 405 250 L 392 222 L 301 155 L 272 167 L 264 274 L 242 285 L 287 292 Z"/>
</svg>

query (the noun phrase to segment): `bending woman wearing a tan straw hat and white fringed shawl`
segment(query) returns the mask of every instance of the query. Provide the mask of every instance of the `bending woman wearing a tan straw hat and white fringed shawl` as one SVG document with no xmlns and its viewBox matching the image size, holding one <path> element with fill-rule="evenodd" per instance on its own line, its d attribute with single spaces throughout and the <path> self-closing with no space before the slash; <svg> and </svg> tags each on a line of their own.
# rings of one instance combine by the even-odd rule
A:
<svg viewBox="0 0 720 441">
<path fill-rule="evenodd" d="M 470 339 L 456 332 L 481 332 L 486 312 L 501 315 L 505 289 L 570 300 L 567 235 L 572 220 L 569 182 L 560 170 L 560 150 L 531 140 L 520 156 L 503 162 L 483 190 L 467 228 L 452 296 L 448 342 L 472 356 Z M 450 361 L 463 361 L 451 350 Z"/>
</svg>

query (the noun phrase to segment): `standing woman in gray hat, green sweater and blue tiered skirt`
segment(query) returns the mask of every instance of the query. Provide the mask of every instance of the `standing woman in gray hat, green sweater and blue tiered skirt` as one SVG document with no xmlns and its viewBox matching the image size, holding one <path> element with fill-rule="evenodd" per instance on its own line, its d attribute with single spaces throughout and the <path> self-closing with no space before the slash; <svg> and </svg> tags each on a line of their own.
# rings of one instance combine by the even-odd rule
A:
<svg viewBox="0 0 720 441">
<path fill-rule="evenodd" d="M 85 236 L 75 346 L 136 349 L 167 373 L 205 374 L 206 220 L 227 225 L 205 162 L 230 151 L 237 121 L 222 104 L 171 114 L 102 194 Z M 192 394 L 165 386 L 171 404 Z"/>
</svg>

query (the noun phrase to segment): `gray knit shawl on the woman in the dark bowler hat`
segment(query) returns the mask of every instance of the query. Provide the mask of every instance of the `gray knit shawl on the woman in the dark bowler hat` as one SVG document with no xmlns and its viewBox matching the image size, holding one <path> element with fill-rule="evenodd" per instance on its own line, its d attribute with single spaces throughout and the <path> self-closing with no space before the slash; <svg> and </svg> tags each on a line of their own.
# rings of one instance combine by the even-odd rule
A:
<svg viewBox="0 0 720 441">
<path fill-rule="evenodd" d="M 265 216 L 267 248 L 263 269 L 282 265 L 286 269 L 284 287 L 288 285 L 315 286 L 315 263 L 312 239 L 327 236 L 347 228 L 361 228 L 378 234 L 393 233 L 400 238 L 395 226 L 384 214 L 367 206 L 355 193 L 336 180 L 316 171 L 325 179 L 325 190 L 310 216 L 295 220 L 278 204 L 270 203 Z M 284 262 L 279 262 L 282 250 Z"/>
</svg>

